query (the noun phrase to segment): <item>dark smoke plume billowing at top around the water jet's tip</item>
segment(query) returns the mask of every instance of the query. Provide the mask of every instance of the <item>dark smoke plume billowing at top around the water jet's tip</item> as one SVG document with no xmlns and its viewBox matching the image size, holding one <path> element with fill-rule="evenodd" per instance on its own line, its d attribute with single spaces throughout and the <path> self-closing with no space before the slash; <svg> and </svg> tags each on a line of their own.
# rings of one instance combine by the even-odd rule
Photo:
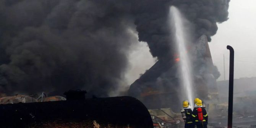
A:
<svg viewBox="0 0 256 128">
<path fill-rule="evenodd" d="M 230 0 L 148 0 L 138 3 L 136 30 L 139 41 L 149 45 L 154 57 L 164 58 L 170 52 L 170 30 L 168 15 L 170 5 L 176 6 L 194 26 L 193 37 L 205 34 L 208 41 L 217 32 L 217 24 L 228 19 L 228 3 Z M 193 39 L 191 39 L 192 41 Z"/>
</svg>

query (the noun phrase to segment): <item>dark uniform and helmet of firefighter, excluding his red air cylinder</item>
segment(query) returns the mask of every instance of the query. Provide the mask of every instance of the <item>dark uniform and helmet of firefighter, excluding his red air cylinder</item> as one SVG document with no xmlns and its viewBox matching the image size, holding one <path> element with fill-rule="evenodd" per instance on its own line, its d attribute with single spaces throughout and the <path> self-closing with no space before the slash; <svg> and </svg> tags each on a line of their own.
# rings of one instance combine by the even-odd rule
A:
<svg viewBox="0 0 256 128">
<path fill-rule="evenodd" d="M 198 106 L 202 106 L 202 102 L 200 103 L 200 101 L 198 100 Z M 202 113 L 203 113 L 203 120 L 199 120 L 198 119 L 198 108 L 202 109 Z M 206 112 L 205 107 L 195 107 L 193 109 L 193 113 L 192 113 L 192 117 L 193 117 L 193 122 L 196 125 L 197 128 L 207 128 L 207 123 L 208 123 L 208 115 Z"/>
</svg>

